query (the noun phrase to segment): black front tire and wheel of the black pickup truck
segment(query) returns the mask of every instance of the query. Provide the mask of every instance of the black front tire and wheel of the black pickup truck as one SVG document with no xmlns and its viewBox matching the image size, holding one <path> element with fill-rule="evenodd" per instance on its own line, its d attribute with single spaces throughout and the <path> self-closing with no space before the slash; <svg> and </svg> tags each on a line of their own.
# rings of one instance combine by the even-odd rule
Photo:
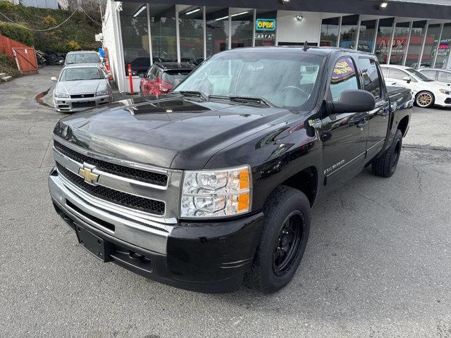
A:
<svg viewBox="0 0 451 338">
<path fill-rule="evenodd" d="M 290 282 L 307 246 L 310 213 L 307 196 L 297 189 L 280 186 L 268 196 L 257 253 L 245 275 L 247 287 L 270 294 Z"/>
</svg>

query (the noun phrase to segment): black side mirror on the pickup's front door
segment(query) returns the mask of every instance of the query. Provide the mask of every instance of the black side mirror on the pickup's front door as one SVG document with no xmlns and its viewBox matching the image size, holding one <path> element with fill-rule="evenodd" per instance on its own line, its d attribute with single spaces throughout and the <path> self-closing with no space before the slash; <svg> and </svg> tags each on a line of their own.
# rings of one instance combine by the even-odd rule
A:
<svg viewBox="0 0 451 338">
<path fill-rule="evenodd" d="M 371 111 L 376 106 L 373 94 L 362 89 L 345 90 L 338 97 L 338 101 L 328 101 L 329 114 L 360 113 Z"/>
</svg>

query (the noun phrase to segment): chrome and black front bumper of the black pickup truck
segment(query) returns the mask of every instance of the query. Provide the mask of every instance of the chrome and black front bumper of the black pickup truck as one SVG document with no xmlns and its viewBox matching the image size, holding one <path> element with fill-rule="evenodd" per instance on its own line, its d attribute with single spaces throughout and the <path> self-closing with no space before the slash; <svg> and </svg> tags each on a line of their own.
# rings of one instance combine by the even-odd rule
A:
<svg viewBox="0 0 451 338">
<path fill-rule="evenodd" d="M 263 214 L 214 222 L 179 222 L 168 232 L 121 221 L 89 206 L 49 177 L 58 215 L 75 231 L 85 230 L 111 244 L 109 260 L 152 280 L 196 292 L 224 293 L 240 288 L 257 249 Z M 111 227 L 109 227 L 111 225 Z"/>
</svg>

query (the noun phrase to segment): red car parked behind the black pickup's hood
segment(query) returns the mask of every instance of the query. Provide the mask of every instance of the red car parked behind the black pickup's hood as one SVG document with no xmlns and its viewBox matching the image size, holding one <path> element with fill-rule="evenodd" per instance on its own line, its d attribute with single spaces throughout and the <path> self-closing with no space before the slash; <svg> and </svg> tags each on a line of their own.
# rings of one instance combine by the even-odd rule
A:
<svg viewBox="0 0 451 338">
<path fill-rule="evenodd" d="M 140 80 L 141 96 L 171 92 L 194 69 L 191 63 L 154 63 Z"/>
</svg>

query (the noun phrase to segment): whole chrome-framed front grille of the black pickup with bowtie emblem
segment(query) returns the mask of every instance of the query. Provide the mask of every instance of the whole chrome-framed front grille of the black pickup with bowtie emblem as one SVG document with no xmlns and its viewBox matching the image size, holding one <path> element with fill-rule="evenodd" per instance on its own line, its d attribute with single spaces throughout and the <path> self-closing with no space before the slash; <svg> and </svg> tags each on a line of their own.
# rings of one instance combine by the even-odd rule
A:
<svg viewBox="0 0 451 338">
<path fill-rule="evenodd" d="M 167 231 L 166 225 L 177 223 L 183 171 L 106 156 L 56 135 L 53 149 L 56 168 L 66 189 L 93 211 L 109 213 L 139 226 L 152 225 L 160 231 Z M 94 181 L 87 179 L 86 170 L 95 177 Z"/>
</svg>

